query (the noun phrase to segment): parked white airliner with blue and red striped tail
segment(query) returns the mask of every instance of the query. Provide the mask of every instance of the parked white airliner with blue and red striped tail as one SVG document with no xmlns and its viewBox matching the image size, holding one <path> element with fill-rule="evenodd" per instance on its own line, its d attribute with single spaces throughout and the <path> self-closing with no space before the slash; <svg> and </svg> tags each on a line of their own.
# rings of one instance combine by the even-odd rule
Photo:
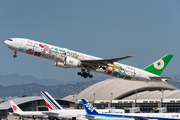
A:
<svg viewBox="0 0 180 120">
<path fill-rule="evenodd" d="M 49 117 L 76 120 L 89 119 L 89 117 L 86 116 L 84 109 L 63 109 L 48 92 L 41 92 L 41 95 L 49 109 L 49 111 L 44 113 L 46 113 Z M 123 109 L 97 109 L 97 111 L 99 113 L 124 113 Z"/>
</svg>

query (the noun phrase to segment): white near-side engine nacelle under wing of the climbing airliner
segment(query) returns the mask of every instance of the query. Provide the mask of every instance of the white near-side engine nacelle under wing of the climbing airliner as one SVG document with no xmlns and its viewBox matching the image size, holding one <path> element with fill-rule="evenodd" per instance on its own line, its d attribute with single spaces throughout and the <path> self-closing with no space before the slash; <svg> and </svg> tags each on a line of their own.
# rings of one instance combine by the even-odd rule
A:
<svg viewBox="0 0 180 120">
<path fill-rule="evenodd" d="M 66 65 L 68 67 L 76 68 L 81 65 L 81 61 L 76 58 L 66 56 L 64 65 Z"/>
</svg>

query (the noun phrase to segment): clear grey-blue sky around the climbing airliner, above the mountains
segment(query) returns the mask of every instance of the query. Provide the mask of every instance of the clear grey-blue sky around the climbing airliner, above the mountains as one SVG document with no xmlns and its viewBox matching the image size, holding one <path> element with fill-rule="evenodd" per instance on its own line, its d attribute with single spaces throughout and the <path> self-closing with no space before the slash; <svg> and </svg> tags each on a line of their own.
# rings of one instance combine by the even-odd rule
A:
<svg viewBox="0 0 180 120">
<path fill-rule="evenodd" d="M 174 55 L 162 76 L 180 71 L 180 1 L 178 0 L 1 0 L 0 75 L 73 81 L 80 69 L 61 69 L 50 60 L 17 53 L 4 41 L 28 38 L 101 58 L 145 68 Z M 94 76 L 101 74 L 92 73 Z"/>
</svg>

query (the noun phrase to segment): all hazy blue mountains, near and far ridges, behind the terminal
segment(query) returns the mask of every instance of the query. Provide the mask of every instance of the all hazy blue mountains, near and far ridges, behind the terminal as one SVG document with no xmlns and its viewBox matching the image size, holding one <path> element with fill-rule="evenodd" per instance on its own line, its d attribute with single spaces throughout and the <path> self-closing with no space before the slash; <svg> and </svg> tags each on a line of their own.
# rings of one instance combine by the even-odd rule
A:
<svg viewBox="0 0 180 120">
<path fill-rule="evenodd" d="M 71 81 L 66 84 L 60 84 L 61 81 L 55 82 L 54 79 L 43 79 L 39 80 L 32 76 L 21 76 L 21 75 L 0 75 L 0 98 L 5 97 L 21 97 L 24 95 L 34 96 L 40 95 L 40 91 L 47 91 L 55 98 L 63 98 L 68 95 L 73 95 L 81 92 L 87 87 L 105 79 L 109 78 L 108 76 L 98 76 L 92 79 L 78 79 Z M 5 82 L 6 83 L 3 83 Z M 11 85 L 8 82 L 11 82 Z M 25 81 L 25 82 L 24 82 Z M 28 81 L 28 82 L 27 82 Z M 46 83 L 45 85 L 40 83 Z M 52 85 L 50 83 L 54 83 Z M 168 83 L 180 89 L 180 79 L 168 80 Z M 1 85 L 2 84 L 2 85 Z M 12 85 L 15 84 L 15 85 Z M 18 85 L 19 84 L 19 85 Z"/>
</svg>

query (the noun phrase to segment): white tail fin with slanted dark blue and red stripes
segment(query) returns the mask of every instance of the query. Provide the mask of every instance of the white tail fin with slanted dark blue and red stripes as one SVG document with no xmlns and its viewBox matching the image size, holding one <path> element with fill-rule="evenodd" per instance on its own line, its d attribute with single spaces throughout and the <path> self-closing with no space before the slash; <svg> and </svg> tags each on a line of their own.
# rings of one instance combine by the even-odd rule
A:
<svg viewBox="0 0 180 120">
<path fill-rule="evenodd" d="M 48 92 L 41 92 L 42 97 L 46 105 L 48 106 L 49 111 L 52 110 L 63 110 L 63 108 L 54 100 L 54 98 Z"/>
</svg>

